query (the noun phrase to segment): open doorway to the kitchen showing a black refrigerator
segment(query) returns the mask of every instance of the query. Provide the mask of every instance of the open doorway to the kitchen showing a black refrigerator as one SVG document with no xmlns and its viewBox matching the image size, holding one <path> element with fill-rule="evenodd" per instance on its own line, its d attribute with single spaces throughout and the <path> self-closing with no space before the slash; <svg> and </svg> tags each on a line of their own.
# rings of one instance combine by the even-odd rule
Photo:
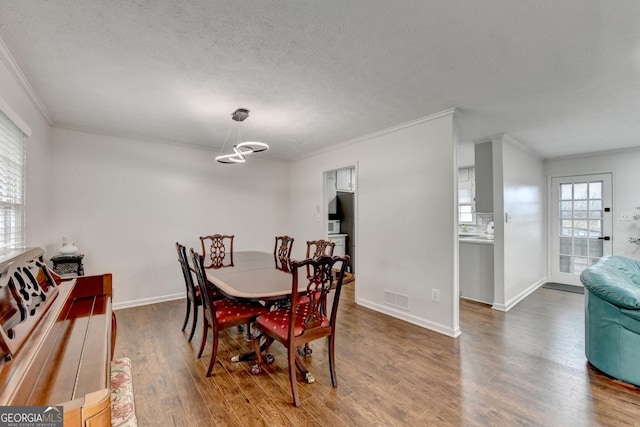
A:
<svg viewBox="0 0 640 427">
<path fill-rule="evenodd" d="M 355 273 L 356 168 L 326 171 L 324 182 L 327 240 L 335 243 L 334 255 L 351 257 L 347 271 Z"/>
</svg>

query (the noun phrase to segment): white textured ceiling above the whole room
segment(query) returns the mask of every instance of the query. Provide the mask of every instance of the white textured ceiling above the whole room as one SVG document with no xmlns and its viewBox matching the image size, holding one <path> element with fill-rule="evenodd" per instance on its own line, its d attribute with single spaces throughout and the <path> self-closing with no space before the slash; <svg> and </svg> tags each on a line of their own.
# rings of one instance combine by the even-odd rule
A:
<svg viewBox="0 0 640 427">
<path fill-rule="evenodd" d="M 0 0 L 54 126 L 292 160 L 449 108 L 460 141 L 640 146 L 635 0 Z M 232 133 L 231 138 L 234 138 Z M 233 141 L 235 142 L 235 141 Z"/>
</svg>

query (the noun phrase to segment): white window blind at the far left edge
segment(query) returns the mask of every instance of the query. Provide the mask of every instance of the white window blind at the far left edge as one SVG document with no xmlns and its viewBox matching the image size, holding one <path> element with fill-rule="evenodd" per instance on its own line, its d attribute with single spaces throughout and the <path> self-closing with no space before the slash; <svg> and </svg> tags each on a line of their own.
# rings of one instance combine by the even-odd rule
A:
<svg viewBox="0 0 640 427">
<path fill-rule="evenodd" d="M 25 139 L 0 111 L 0 249 L 24 246 Z"/>
</svg>

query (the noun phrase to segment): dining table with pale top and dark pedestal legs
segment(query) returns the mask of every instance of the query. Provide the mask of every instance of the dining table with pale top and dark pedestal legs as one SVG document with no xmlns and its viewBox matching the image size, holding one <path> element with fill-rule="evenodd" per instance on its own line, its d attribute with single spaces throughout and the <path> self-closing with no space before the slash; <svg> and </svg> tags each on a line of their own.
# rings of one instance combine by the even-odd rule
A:
<svg viewBox="0 0 640 427">
<path fill-rule="evenodd" d="M 267 305 L 278 305 L 278 303 L 287 301 L 291 295 L 293 276 L 290 260 L 269 252 L 234 251 L 227 253 L 218 265 L 206 268 L 205 274 L 207 281 L 228 298 L 262 301 Z M 350 283 L 353 279 L 351 273 L 345 272 L 343 284 Z M 248 352 L 233 356 L 231 361 L 249 361 L 254 357 L 254 352 Z M 267 354 L 266 360 L 267 363 L 271 363 L 273 356 Z M 301 361 L 298 366 L 302 366 Z M 308 382 L 313 381 L 313 377 L 308 374 L 308 371 L 301 370 Z M 258 371 L 257 366 L 253 367 L 252 372 L 257 373 Z"/>
</svg>

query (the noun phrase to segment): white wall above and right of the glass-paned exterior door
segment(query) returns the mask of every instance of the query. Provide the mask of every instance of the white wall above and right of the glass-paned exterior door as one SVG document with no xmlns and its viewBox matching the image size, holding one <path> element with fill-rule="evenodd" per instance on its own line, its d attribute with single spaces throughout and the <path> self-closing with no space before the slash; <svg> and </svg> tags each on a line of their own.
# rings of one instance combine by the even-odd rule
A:
<svg viewBox="0 0 640 427">
<path fill-rule="evenodd" d="M 620 221 L 621 212 L 639 213 L 640 149 L 550 159 L 545 162 L 549 177 L 611 172 L 613 175 L 613 254 L 640 259 L 640 246 L 629 237 L 640 237 L 640 223 Z M 550 252 L 550 251 L 549 251 Z"/>
</svg>

